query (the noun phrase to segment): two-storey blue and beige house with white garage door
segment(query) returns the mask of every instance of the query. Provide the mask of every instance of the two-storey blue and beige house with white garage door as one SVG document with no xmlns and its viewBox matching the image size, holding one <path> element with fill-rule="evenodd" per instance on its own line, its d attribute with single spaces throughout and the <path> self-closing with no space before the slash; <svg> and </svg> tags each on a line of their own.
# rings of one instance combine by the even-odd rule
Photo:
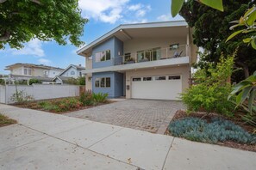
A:
<svg viewBox="0 0 256 170">
<path fill-rule="evenodd" d="M 125 24 L 78 50 L 86 89 L 109 97 L 178 100 L 197 60 L 185 21 Z"/>
</svg>

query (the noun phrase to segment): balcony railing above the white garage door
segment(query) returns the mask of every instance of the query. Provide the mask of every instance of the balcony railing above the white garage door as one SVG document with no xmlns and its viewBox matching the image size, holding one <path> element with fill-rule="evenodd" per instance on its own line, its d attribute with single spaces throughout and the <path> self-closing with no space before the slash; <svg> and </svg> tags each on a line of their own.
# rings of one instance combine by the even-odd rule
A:
<svg viewBox="0 0 256 170">
<path fill-rule="evenodd" d="M 114 65 L 135 64 L 141 62 L 150 62 L 169 58 L 181 58 L 189 56 L 189 46 L 172 46 L 167 48 L 155 48 L 150 50 L 141 50 L 134 53 L 112 58 Z"/>
</svg>

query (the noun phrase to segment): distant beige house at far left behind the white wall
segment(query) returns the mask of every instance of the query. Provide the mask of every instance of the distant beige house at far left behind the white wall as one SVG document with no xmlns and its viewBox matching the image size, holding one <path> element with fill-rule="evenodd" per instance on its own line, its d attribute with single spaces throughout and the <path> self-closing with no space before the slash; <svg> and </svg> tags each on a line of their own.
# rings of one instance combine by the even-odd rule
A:
<svg viewBox="0 0 256 170">
<path fill-rule="evenodd" d="M 52 82 L 54 76 L 59 75 L 63 71 L 61 68 L 47 66 L 43 64 L 11 64 L 6 66 L 5 70 L 9 70 L 10 79 L 29 80 L 39 79 L 42 82 Z"/>
</svg>

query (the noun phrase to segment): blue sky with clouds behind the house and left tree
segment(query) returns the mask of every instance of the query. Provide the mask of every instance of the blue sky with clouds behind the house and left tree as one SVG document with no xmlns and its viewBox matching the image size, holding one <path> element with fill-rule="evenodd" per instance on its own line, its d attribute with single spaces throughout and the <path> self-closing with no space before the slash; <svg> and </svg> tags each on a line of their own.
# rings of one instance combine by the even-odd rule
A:
<svg viewBox="0 0 256 170">
<path fill-rule="evenodd" d="M 103 33 L 122 23 L 138 23 L 149 21 L 182 20 L 178 16 L 172 18 L 171 0 L 80 0 L 82 15 L 89 18 L 84 26 L 81 39 L 89 44 Z M 33 39 L 24 45 L 22 50 L 0 50 L 0 74 L 9 74 L 4 70 L 6 65 L 15 63 L 47 64 L 66 68 L 69 64 L 84 65 L 84 58 L 78 56 L 76 46 L 59 46 L 55 41 L 42 42 Z"/>
</svg>

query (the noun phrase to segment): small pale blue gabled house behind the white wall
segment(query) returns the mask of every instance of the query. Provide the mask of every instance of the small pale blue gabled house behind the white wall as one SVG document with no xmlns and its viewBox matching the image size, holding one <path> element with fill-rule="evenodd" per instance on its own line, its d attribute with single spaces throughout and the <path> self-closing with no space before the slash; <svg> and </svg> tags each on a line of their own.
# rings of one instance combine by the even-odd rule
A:
<svg viewBox="0 0 256 170">
<path fill-rule="evenodd" d="M 70 78 L 78 78 L 80 76 L 83 76 L 82 72 L 85 70 L 82 65 L 74 65 L 70 64 L 66 70 L 63 70 L 61 73 L 59 73 L 58 76 L 55 76 L 53 78 L 53 81 L 59 84 L 63 84 Z"/>
</svg>

